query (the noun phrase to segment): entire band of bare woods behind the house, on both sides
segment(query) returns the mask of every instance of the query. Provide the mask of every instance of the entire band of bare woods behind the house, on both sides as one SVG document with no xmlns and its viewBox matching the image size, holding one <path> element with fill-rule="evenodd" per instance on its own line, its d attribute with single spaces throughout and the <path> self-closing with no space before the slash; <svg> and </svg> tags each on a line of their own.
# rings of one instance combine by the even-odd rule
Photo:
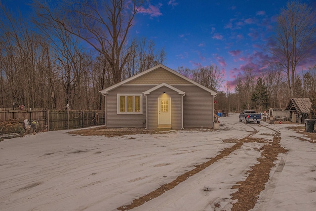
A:
<svg viewBox="0 0 316 211">
<path fill-rule="evenodd" d="M 34 0 L 33 16 L 0 3 L 0 107 L 104 109 L 99 91 L 157 64 L 166 53 L 147 38 L 131 38 L 144 0 Z M 215 108 L 241 111 L 285 107 L 291 97 L 313 97 L 316 66 L 296 68 L 316 49 L 315 9 L 289 1 L 277 17 L 261 71 L 246 68 L 223 88 L 224 74 L 209 65 L 182 75 L 218 92 Z M 224 91 L 219 91 L 223 90 Z"/>
</svg>

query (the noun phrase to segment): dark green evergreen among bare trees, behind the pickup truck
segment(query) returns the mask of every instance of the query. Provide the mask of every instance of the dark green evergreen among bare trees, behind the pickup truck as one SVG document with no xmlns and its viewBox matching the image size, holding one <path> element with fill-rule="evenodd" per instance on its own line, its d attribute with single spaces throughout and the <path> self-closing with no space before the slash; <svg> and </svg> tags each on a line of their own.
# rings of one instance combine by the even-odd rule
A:
<svg viewBox="0 0 316 211">
<path fill-rule="evenodd" d="M 255 102 L 259 108 L 259 111 L 263 111 L 268 108 L 268 90 L 267 86 L 262 78 L 257 79 L 255 90 L 251 96 L 251 101 Z"/>
</svg>

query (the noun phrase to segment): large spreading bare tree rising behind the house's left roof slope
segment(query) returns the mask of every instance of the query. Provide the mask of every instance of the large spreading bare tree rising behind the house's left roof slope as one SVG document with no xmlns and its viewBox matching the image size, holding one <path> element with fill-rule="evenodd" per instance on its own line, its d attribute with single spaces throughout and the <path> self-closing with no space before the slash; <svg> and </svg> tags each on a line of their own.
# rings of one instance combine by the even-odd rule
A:
<svg viewBox="0 0 316 211">
<path fill-rule="evenodd" d="M 56 6 L 58 12 L 39 2 L 34 5 L 39 8 L 39 15 L 50 17 L 102 54 L 111 67 L 113 83 L 120 82 L 129 56 L 128 33 L 143 0 L 83 0 L 76 3 L 70 0 L 63 3 Z"/>
</svg>

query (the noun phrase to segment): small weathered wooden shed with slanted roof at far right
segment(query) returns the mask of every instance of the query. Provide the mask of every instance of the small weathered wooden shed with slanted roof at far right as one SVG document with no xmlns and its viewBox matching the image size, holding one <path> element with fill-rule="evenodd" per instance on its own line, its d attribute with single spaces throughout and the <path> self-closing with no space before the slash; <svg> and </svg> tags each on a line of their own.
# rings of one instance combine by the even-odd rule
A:
<svg viewBox="0 0 316 211">
<path fill-rule="evenodd" d="M 312 109 L 310 98 L 291 98 L 285 110 L 290 112 L 291 122 L 302 124 Z"/>
</svg>

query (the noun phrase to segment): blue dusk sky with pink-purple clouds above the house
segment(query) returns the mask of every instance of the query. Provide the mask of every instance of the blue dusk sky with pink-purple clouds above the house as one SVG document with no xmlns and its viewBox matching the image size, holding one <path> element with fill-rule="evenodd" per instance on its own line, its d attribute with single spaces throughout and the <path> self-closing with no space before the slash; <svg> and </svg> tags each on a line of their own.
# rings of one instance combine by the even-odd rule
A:
<svg viewBox="0 0 316 211">
<path fill-rule="evenodd" d="M 2 0 L 10 9 L 32 0 Z M 164 47 L 165 65 L 176 70 L 218 66 L 225 81 L 234 81 L 244 68 L 260 72 L 267 66 L 265 47 L 276 15 L 287 0 L 145 0 L 135 17 L 131 38 L 146 37 Z M 316 0 L 302 0 L 316 8 Z M 29 11 L 29 10 L 26 10 Z M 297 68 L 316 64 L 316 55 Z M 224 84 L 223 84 L 224 85 Z"/>
</svg>

